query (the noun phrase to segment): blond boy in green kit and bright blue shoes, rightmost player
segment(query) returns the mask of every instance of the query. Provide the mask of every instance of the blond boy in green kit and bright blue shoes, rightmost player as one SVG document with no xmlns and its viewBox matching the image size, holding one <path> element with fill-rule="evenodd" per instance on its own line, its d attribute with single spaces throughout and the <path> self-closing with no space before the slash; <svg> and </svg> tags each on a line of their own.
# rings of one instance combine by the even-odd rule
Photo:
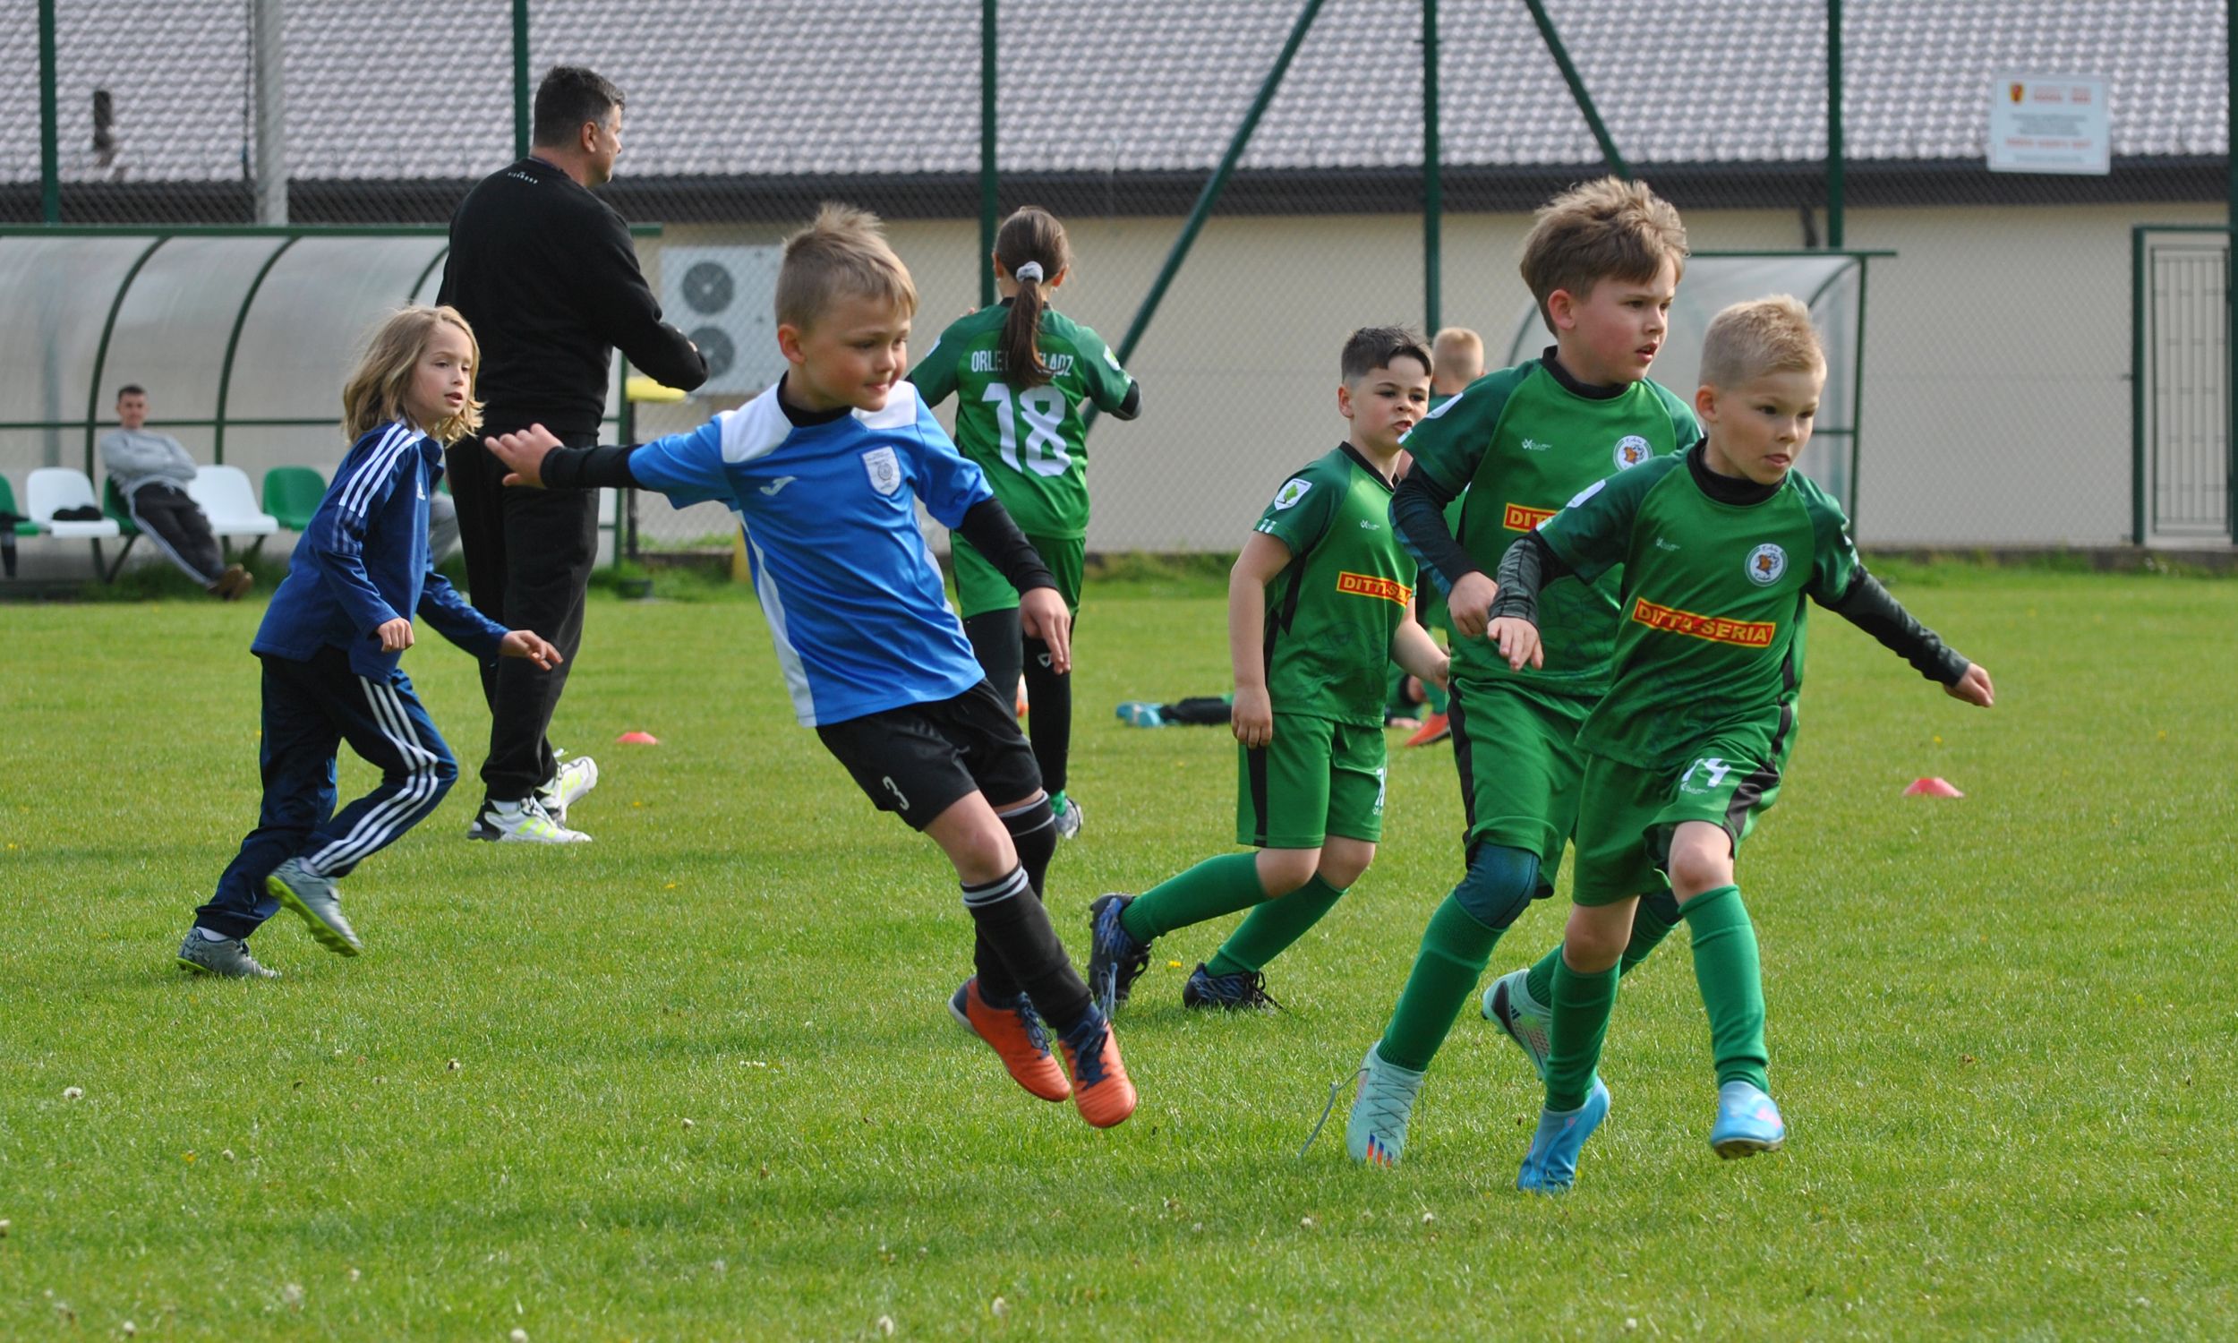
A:
<svg viewBox="0 0 2238 1343">
<path fill-rule="evenodd" d="M 1768 1095 L 1757 933 L 1734 857 L 1772 806 L 1795 745 L 1804 683 L 1804 598 L 1853 620 L 1929 680 L 1990 707 L 1994 689 L 1922 629 L 1858 562 L 1849 519 L 1808 477 L 1826 360 L 1802 302 L 1725 309 L 1703 336 L 1694 407 L 1708 441 L 1580 492 L 1502 557 L 1488 638 L 1511 669 L 1553 660 L 1567 633 L 1540 593 L 1558 575 L 1623 566 L 1623 622 L 1609 694 L 1578 734 L 1573 909 L 1551 1005 L 1546 1110 L 1517 1189 L 1569 1189 L 1578 1148 L 1609 1110 L 1596 1074 L 1618 962 L 1645 900 L 1674 898 L 1692 931 L 1710 1014 L 1721 1157 L 1775 1151 L 1786 1124 Z"/>
</svg>

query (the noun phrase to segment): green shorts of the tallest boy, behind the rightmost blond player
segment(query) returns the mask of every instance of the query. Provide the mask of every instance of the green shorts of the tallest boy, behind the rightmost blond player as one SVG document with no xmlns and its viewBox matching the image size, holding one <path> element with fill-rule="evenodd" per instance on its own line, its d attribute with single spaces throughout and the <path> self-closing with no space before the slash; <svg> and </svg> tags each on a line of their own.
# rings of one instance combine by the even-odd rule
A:
<svg viewBox="0 0 2238 1343">
<path fill-rule="evenodd" d="M 1466 846 L 1506 844 L 1540 857 L 1540 889 L 1553 893 L 1562 846 L 1578 824 L 1585 750 L 1578 727 L 1593 701 L 1546 694 L 1520 680 L 1455 680 L 1446 710 L 1452 763 L 1461 772 Z"/>
</svg>

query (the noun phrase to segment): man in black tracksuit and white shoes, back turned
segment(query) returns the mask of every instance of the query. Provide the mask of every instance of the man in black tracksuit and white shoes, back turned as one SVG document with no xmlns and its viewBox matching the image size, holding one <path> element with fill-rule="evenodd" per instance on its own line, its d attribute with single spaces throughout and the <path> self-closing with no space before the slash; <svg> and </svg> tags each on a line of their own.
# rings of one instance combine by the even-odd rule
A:
<svg viewBox="0 0 2238 1343">
<path fill-rule="evenodd" d="M 533 152 L 474 186 L 450 217 L 448 302 L 481 342 L 474 389 L 483 434 L 544 425 L 568 448 L 598 443 L 609 358 L 669 387 L 698 387 L 707 360 L 660 320 L 629 226 L 589 188 L 622 152 L 622 94 L 598 74 L 555 65 L 537 87 Z M 479 439 L 450 448 L 459 542 L 474 607 L 506 629 L 533 629 L 562 660 L 481 665 L 490 754 L 474 839 L 573 844 L 566 808 L 598 783 L 598 766 L 560 766 L 544 732 L 575 667 L 584 586 L 598 555 L 595 490 L 508 490 Z"/>
</svg>

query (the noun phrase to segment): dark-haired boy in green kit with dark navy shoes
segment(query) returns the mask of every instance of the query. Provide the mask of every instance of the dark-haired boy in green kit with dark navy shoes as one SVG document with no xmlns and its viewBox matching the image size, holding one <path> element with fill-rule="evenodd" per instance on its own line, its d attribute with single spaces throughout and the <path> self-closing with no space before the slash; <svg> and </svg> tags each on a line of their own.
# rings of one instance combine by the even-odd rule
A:
<svg viewBox="0 0 2238 1343">
<path fill-rule="evenodd" d="M 1392 537 L 1399 439 L 1430 398 L 1430 356 L 1399 327 L 1345 340 L 1336 410 L 1352 432 L 1289 477 L 1229 575 L 1235 842 L 1141 895 L 1090 907 L 1088 983 L 1126 1003 L 1150 942 L 1238 909 L 1251 915 L 1197 965 L 1186 1007 L 1262 1007 L 1264 967 L 1352 886 L 1383 837 L 1383 665 L 1446 680 L 1414 622 L 1414 562 Z"/>
</svg>

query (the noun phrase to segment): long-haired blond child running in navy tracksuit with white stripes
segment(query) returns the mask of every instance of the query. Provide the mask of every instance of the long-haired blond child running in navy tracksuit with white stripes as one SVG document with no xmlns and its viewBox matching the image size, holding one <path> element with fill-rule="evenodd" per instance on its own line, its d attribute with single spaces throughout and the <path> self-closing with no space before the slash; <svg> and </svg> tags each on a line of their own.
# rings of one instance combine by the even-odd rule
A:
<svg viewBox="0 0 2238 1343">
<path fill-rule="evenodd" d="M 477 658 L 560 651 L 474 611 L 427 564 L 427 495 L 443 443 L 481 423 L 474 331 L 454 309 L 407 307 L 374 331 L 342 389 L 356 439 L 295 544 L 289 575 L 251 647 L 264 663 L 264 810 L 242 853 L 195 911 L 179 965 L 197 974 L 275 978 L 244 940 L 282 904 L 331 951 L 356 956 L 336 877 L 434 810 L 459 777 L 443 736 L 396 667 L 412 616 Z M 333 810 L 338 745 L 380 768 L 380 786 Z"/>
</svg>

